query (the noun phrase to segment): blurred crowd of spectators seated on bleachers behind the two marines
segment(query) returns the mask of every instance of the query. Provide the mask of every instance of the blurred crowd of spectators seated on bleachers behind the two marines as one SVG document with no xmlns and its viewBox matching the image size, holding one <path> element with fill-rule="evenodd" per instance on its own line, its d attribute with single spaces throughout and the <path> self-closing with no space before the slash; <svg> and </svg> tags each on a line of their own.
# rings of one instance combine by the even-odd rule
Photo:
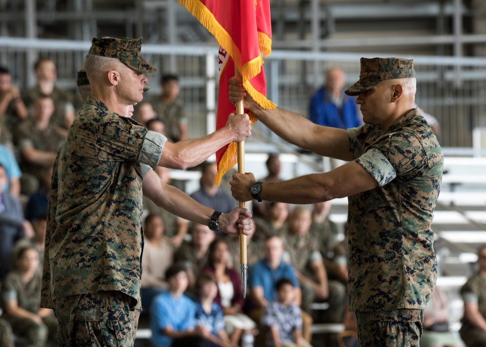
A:
<svg viewBox="0 0 486 347">
<path fill-rule="evenodd" d="M 53 343 L 57 333 L 53 312 L 40 307 L 47 204 L 57 150 L 82 101 L 77 92 L 56 86 L 56 68 L 49 58 L 39 58 L 34 73 L 36 85 L 21 91 L 12 85 L 8 69 L 0 67 L 2 346 L 9 346 L 2 342 L 2 334 L 9 331 L 39 347 Z M 328 73 L 327 88 L 333 86 L 344 87 L 340 69 Z M 136 105 L 133 117 L 170 141 L 187 139 L 178 77 L 164 75 L 161 87 L 161 95 Z M 323 100 L 335 105 L 319 105 Z M 324 121 L 317 114 L 320 108 L 339 112 L 344 106 L 350 126 L 361 122 L 354 101 L 325 94 L 325 87 L 310 104 L 316 122 Z M 255 173 L 257 178 L 281 180 L 278 155 L 269 155 L 266 164 L 268 172 Z M 214 183 L 216 164 L 206 162 L 200 169 L 200 188 L 191 196 L 217 211 L 231 211 L 236 202 Z M 171 184 L 168 169 L 154 171 Z M 153 323 L 154 346 L 242 346 L 251 341 L 259 346 L 309 346 L 312 322 L 346 322 L 353 330 L 347 312 L 347 240 L 329 220 L 330 206 L 252 204 L 248 294 L 243 298 L 239 239 L 189 224 L 144 199 L 141 296 L 143 312 Z M 439 305 L 443 297 L 432 303 Z M 313 310 L 316 302 L 327 302 L 328 309 Z M 170 322 L 172 329 L 154 328 L 160 321 Z M 352 346 L 356 340 L 347 342 Z"/>
</svg>

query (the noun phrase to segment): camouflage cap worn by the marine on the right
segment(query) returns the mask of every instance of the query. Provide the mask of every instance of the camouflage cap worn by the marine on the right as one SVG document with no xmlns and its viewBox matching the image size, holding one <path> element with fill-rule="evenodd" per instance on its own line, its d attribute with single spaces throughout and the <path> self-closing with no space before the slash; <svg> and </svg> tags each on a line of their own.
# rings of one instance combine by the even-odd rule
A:
<svg viewBox="0 0 486 347">
<path fill-rule="evenodd" d="M 359 95 L 386 80 L 415 77 L 414 61 L 402 58 L 361 58 L 360 80 L 344 91 Z"/>
</svg>

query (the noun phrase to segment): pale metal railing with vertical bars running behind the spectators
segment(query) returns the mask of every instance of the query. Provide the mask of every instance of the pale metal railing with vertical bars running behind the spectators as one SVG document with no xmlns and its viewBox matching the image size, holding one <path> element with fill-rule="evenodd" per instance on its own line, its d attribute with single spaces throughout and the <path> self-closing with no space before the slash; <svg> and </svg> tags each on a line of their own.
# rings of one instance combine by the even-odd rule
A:
<svg viewBox="0 0 486 347">
<path fill-rule="evenodd" d="M 51 57 L 60 86 L 75 91 L 76 71 L 81 68 L 90 42 L 0 37 L 0 64 L 13 73 L 14 83 L 29 87 L 38 55 Z M 160 93 L 162 73 L 180 76 L 180 99 L 186 107 L 189 135 L 214 130 L 217 98 L 217 47 L 207 45 L 144 44 L 144 57 L 157 68 L 148 76 L 147 97 Z M 378 54 L 376 54 L 378 55 Z M 376 56 L 366 54 L 367 57 Z M 394 56 L 379 54 L 380 56 Z M 324 83 L 325 70 L 340 66 L 346 84 L 359 78 L 361 54 L 334 52 L 273 51 L 265 59 L 267 94 L 282 108 L 307 116 L 310 95 Z M 472 154 L 472 129 L 486 126 L 486 58 L 405 56 L 414 58 L 417 71 L 417 104 L 437 118 L 440 142 L 455 152 Z M 174 68 L 170 67 L 176 67 Z M 280 141 L 261 124 L 255 140 Z M 451 151 L 454 152 L 454 151 Z"/>
</svg>

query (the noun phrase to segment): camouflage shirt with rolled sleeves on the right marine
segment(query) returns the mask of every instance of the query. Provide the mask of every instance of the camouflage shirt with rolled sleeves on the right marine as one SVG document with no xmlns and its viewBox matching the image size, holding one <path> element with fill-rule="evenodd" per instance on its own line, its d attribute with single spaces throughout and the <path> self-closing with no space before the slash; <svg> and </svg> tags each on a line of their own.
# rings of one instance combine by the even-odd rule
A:
<svg viewBox="0 0 486 347">
<path fill-rule="evenodd" d="M 424 309 L 437 277 L 431 223 L 443 156 L 415 108 L 386 130 L 348 129 L 378 187 L 349 196 L 350 311 Z"/>
</svg>

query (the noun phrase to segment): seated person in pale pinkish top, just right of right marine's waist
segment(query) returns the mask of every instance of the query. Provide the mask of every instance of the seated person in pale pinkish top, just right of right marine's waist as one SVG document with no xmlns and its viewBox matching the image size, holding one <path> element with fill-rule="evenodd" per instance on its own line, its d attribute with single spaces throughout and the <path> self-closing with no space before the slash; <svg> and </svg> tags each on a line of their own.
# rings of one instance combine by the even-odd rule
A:
<svg viewBox="0 0 486 347">
<path fill-rule="evenodd" d="M 459 336 L 449 329 L 449 305 L 447 295 L 440 287 L 435 287 L 424 310 L 421 347 L 459 347 Z"/>
</svg>

